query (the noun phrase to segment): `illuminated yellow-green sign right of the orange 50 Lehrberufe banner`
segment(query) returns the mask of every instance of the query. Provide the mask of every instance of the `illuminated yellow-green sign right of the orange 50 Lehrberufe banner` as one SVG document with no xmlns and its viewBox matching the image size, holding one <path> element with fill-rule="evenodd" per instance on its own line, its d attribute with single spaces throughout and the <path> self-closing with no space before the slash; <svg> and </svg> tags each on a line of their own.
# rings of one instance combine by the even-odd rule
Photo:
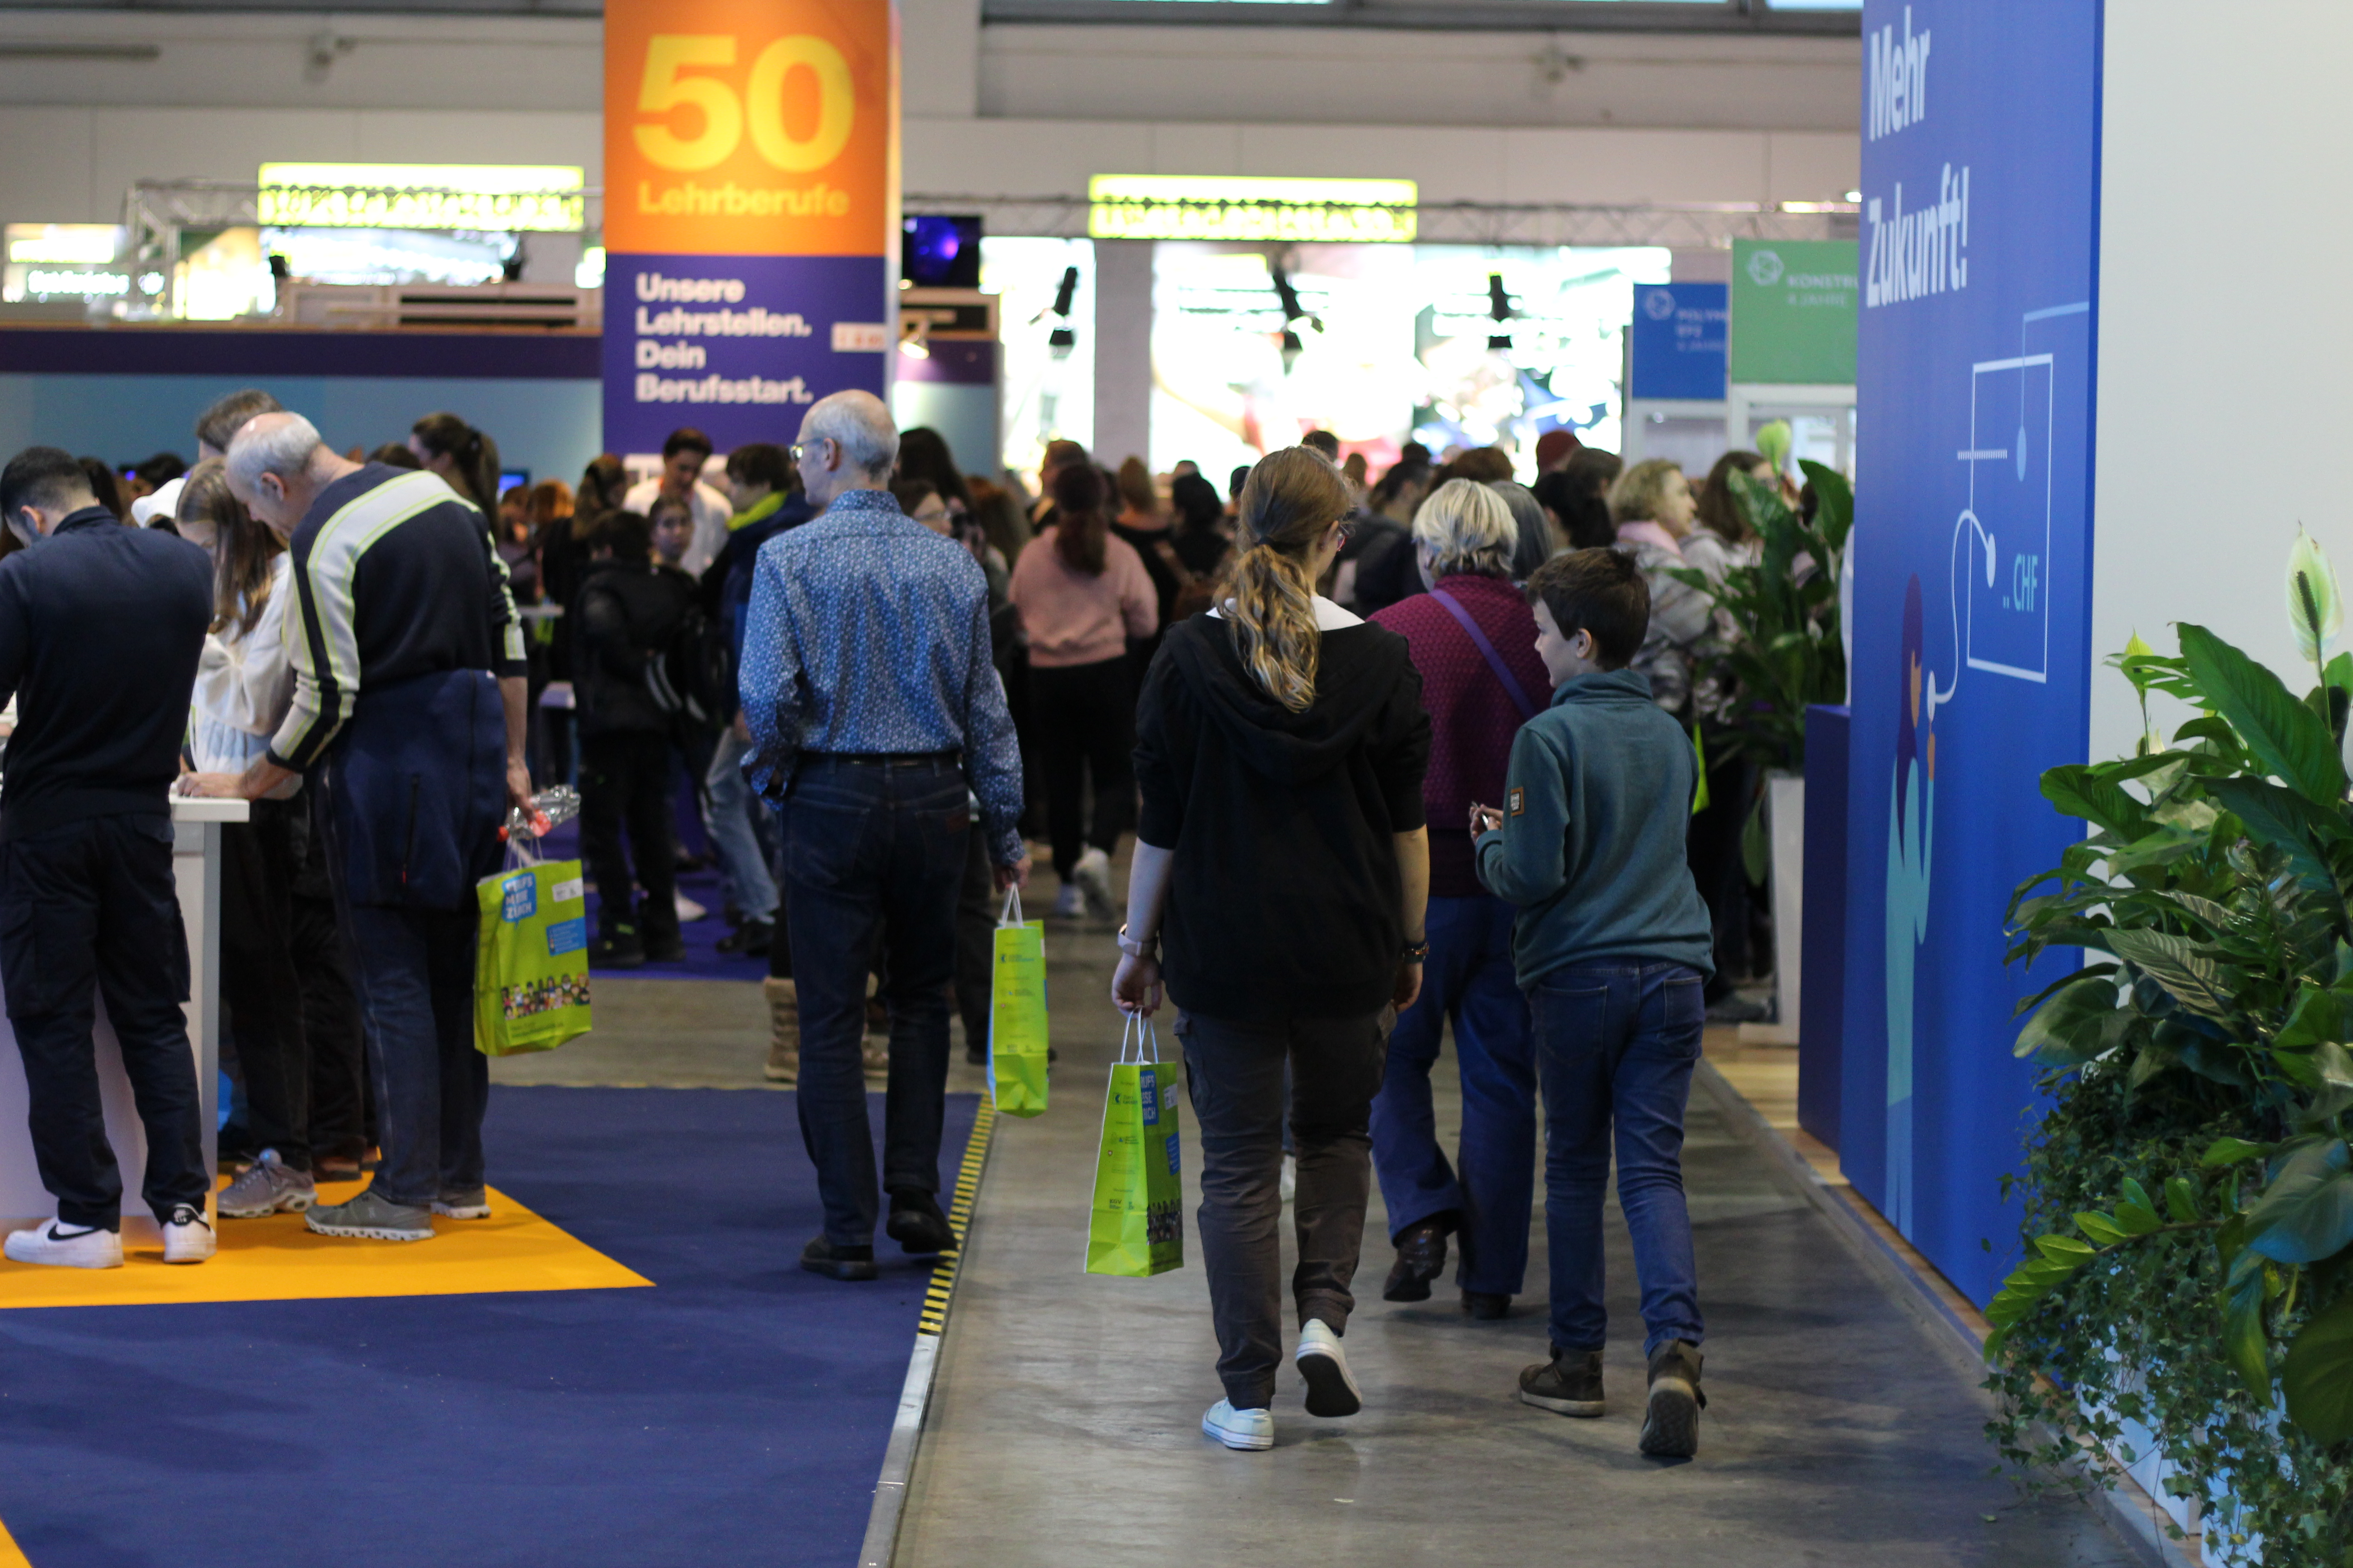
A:
<svg viewBox="0 0 2353 1568">
<path fill-rule="evenodd" d="M 1249 179 L 1224 174 L 1096 174 L 1092 240 L 1353 240 L 1414 237 L 1409 179 Z"/>
</svg>

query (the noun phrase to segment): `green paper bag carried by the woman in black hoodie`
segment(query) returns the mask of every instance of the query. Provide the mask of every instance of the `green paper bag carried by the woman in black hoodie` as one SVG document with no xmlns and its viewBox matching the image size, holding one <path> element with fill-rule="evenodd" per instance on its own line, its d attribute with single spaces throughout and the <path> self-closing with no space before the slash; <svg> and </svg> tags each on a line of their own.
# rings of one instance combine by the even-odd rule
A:
<svg viewBox="0 0 2353 1568">
<path fill-rule="evenodd" d="M 1129 1041 L 1136 1060 L 1127 1060 Z M 1104 1095 L 1104 1145 L 1094 1157 L 1094 1211 L 1087 1215 L 1089 1274 L 1148 1279 L 1184 1267 L 1176 1095 L 1176 1063 L 1160 1060 L 1160 1034 L 1129 1016 Z"/>
</svg>

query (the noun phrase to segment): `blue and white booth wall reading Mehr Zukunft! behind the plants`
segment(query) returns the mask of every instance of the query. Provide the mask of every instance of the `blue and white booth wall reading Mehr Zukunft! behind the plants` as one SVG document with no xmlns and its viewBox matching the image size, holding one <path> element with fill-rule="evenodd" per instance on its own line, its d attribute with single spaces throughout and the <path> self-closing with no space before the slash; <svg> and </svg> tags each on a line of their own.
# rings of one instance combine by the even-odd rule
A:
<svg viewBox="0 0 2353 1568">
<path fill-rule="evenodd" d="M 2002 961 L 2014 886 L 2082 835 L 2042 769 L 2132 752 L 2106 661 L 2134 632 L 2169 654 L 2207 625 L 2301 691 L 2287 550 L 2304 527 L 2353 559 L 2353 221 L 2297 153 L 2348 129 L 2322 73 L 2353 26 L 2249 16 L 2226 56 L 2209 26 L 2186 2 L 1864 16 L 1892 66 L 1873 45 L 1840 1164 L 1977 1302 L 2019 1258 L 2002 1178 L 2040 1114 L 2014 1006 L 2078 961 Z M 2261 287 L 2245 228 L 2186 221 L 2186 188 L 2266 214 Z M 2261 409 L 2264 444 L 2212 435 L 2217 407 Z"/>
</svg>

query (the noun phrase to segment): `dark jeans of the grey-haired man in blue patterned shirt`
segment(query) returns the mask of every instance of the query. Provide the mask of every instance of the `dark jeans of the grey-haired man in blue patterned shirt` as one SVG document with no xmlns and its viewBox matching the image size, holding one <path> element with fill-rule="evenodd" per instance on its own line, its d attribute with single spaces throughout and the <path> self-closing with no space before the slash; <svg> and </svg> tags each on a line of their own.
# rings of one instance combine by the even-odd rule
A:
<svg viewBox="0 0 2353 1568">
<path fill-rule="evenodd" d="M 953 759 L 805 757 L 784 809 L 784 900 L 800 994 L 800 1140 L 826 1239 L 871 1246 L 880 1199 L 866 1124 L 866 973 L 889 929 L 882 1187 L 939 1192 L 955 900 L 972 809 Z"/>
</svg>

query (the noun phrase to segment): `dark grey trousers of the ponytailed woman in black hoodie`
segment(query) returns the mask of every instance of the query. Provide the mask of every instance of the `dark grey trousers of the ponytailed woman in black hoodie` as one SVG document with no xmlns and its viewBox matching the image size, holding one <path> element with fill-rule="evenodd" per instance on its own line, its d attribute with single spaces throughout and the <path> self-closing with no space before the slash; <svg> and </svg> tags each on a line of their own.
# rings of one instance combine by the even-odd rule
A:
<svg viewBox="0 0 2353 1568">
<path fill-rule="evenodd" d="M 1346 1333 L 1388 1020 L 1386 1009 L 1278 1023 L 1176 1016 L 1200 1124 L 1198 1220 L 1217 1375 L 1235 1410 L 1264 1410 L 1282 1363 L 1282 1067 L 1292 1070 L 1289 1124 L 1299 1152 L 1292 1305 L 1301 1326 L 1322 1319 Z"/>
</svg>

